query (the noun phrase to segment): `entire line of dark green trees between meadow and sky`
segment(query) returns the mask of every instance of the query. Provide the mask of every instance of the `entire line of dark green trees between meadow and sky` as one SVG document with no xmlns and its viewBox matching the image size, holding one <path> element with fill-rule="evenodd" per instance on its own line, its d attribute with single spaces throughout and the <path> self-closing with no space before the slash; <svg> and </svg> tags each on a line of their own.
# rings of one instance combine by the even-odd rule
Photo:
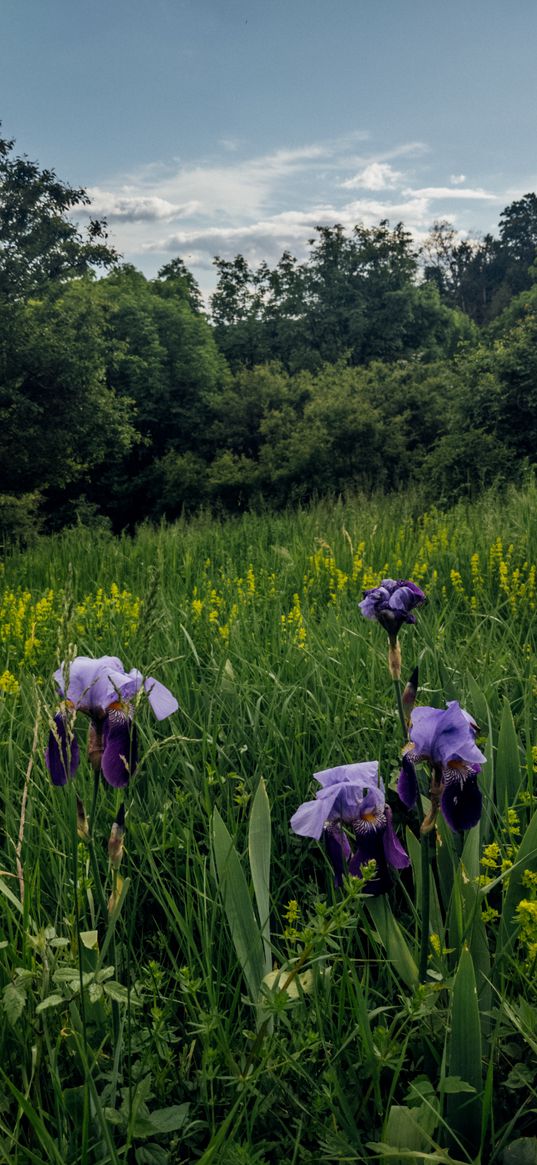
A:
<svg viewBox="0 0 537 1165">
<path fill-rule="evenodd" d="M 305 260 L 121 262 L 84 190 L 0 139 L 0 527 L 114 529 L 419 483 L 448 502 L 536 457 L 537 197 L 497 236 L 318 227 Z"/>
</svg>

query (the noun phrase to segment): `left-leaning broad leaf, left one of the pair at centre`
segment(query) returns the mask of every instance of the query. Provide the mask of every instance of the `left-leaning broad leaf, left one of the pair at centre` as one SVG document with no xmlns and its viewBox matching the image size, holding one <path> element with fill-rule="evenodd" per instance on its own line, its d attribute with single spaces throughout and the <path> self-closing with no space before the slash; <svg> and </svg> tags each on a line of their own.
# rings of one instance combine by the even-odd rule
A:
<svg viewBox="0 0 537 1165">
<path fill-rule="evenodd" d="M 264 975 L 263 942 L 239 855 L 218 809 L 213 812 L 212 833 L 224 910 L 250 1000 L 256 1004 Z"/>
</svg>

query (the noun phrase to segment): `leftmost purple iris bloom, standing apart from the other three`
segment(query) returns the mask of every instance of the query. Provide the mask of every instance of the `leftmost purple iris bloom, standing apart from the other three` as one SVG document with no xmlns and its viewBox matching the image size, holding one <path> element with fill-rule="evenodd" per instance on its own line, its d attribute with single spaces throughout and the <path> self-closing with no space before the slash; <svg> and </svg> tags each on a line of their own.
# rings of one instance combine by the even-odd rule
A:
<svg viewBox="0 0 537 1165">
<path fill-rule="evenodd" d="M 55 785 L 65 785 L 76 772 L 79 751 L 70 723 L 77 712 L 90 716 L 92 757 L 108 784 L 128 784 L 137 762 L 136 727 L 132 700 L 141 687 L 157 718 L 164 720 L 178 708 L 177 700 L 158 680 L 133 668 L 126 672 L 116 656 L 91 659 L 77 656 L 63 663 L 54 676 L 65 705 L 54 718 L 45 760 Z M 71 713 L 71 718 L 69 716 Z"/>
</svg>

